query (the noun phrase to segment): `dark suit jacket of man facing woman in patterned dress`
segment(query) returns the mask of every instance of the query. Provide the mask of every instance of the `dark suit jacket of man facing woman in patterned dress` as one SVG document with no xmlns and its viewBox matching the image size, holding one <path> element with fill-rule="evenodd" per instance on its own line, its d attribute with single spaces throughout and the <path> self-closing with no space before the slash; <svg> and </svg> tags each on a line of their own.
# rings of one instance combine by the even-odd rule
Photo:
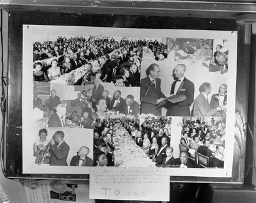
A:
<svg viewBox="0 0 256 203">
<path fill-rule="evenodd" d="M 67 166 L 67 157 L 69 153 L 68 144 L 63 141 L 60 146 L 56 146 L 56 144 L 51 146 L 51 160 L 50 165 L 62 165 Z"/>
</svg>

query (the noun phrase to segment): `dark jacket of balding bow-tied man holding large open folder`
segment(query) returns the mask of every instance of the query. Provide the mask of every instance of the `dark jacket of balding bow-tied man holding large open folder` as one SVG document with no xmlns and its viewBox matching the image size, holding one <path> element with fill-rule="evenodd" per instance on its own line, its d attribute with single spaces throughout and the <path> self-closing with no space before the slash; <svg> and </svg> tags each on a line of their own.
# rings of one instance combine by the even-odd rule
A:
<svg viewBox="0 0 256 203">
<path fill-rule="evenodd" d="M 172 84 L 171 94 L 174 93 L 174 88 L 176 84 L 176 80 Z M 187 98 L 186 100 L 180 102 L 180 103 L 168 103 L 169 109 L 166 113 L 166 116 L 190 116 L 190 109 L 189 106 L 194 101 L 194 93 L 195 93 L 195 87 L 193 82 L 190 80 L 184 78 L 184 80 L 181 82 L 179 89 L 177 90 L 177 94 L 184 94 Z"/>
</svg>

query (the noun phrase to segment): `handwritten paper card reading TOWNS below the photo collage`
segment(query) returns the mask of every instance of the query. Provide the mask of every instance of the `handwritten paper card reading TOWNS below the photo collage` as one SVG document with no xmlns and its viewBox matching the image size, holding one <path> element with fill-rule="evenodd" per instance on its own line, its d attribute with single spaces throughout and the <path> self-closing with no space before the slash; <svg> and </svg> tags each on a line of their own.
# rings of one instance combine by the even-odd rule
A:
<svg viewBox="0 0 256 203">
<path fill-rule="evenodd" d="M 90 199 L 170 199 L 170 174 L 166 169 L 90 168 Z"/>
</svg>

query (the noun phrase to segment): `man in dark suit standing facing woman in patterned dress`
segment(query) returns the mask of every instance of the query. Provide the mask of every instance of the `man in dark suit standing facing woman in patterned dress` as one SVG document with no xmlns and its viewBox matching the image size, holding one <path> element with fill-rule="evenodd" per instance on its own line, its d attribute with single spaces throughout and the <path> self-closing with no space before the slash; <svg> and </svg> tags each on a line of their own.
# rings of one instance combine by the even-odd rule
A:
<svg viewBox="0 0 256 203">
<path fill-rule="evenodd" d="M 50 165 L 67 166 L 67 157 L 69 153 L 69 146 L 64 140 L 65 134 L 58 130 L 54 133 L 51 139 L 51 153 Z"/>
</svg>

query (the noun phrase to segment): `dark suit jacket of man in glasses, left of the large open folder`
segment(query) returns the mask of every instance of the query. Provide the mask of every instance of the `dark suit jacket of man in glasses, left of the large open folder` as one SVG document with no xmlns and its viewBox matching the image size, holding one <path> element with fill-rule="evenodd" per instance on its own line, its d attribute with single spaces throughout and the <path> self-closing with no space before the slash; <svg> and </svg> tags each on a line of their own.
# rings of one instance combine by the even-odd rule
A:
<svg viewBox="0 0 256 203">
<path fill-rule="evenodd" d="M 161 116 L 161 108 L 156 109 L 155 103 L 159 98 L 166 98 L 161 91 L 161 79 L 156 79 L 156 86 L 151 84 L 149 77 L 140 80 L 141 114 L 154 114 Z M 148 89 L 148 93 L 146 93 Z"/>
</svg>

